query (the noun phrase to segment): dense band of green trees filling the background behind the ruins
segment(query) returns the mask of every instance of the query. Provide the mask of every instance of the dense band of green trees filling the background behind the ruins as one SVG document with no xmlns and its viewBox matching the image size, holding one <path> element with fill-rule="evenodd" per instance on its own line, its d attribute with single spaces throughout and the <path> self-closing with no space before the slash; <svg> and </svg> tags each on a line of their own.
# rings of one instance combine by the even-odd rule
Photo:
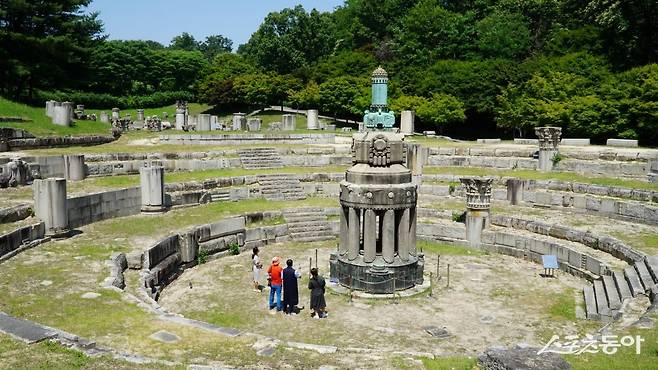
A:
<svg viewBox="0 0 658 370">
<path fill-rule="evenodd" d="M 4 95 L 186 92 L 226 109 L 286 104 L 360 119 L 382 65 L 392 109 L 415 110 L 419 129 L 509 137 L 557 125 L 567 137 L 658 144 L 658 0 L 297 6 L 270 13 L 237 53 L 223 36 L 105 41 L 97 15 L 81 11 L 88 2 L 0 2 Z M 15 50 L 23 44 L 36 52 Z"/>
</svg>

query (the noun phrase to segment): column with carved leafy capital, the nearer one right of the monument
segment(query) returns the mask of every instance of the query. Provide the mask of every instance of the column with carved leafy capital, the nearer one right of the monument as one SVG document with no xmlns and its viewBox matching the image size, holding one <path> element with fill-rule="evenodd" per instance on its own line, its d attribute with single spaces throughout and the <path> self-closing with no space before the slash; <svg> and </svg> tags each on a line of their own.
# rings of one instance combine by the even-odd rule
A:
<svg viewBox="0 0 658 370">
<path fill-rule="evenodd" d="M 466 240 L 472 247 L 482 246 L 482 230 L 489 224 L 491 208 L 490 177 L 462 177 L 466 189 Z"/>
</svg>

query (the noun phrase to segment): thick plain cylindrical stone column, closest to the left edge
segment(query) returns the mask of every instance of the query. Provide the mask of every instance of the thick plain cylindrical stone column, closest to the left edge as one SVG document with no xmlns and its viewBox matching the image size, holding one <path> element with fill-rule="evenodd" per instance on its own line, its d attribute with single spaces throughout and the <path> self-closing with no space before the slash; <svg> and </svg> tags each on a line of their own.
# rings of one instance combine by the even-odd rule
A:
<svg viewBox="0 0 658 370">
<path fill-rule="evenodd" d="M 66 180 L 34 180 L 34 213 L 46 225 L 46 235 L 64 237 L 69 233 Z"/>
</svg>

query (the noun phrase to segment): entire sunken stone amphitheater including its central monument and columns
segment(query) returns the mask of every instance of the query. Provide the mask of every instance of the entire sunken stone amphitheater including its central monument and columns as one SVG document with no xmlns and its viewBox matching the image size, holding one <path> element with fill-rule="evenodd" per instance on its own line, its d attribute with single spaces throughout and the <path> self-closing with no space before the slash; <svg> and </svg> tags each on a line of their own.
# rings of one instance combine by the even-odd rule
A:
<svg viewBox="0 0 658 370">
<path fill-rule="evenodd" d="M 587 369 L 606 355 L 555 337 L 655 348 L 658 150 L 556 127 L 414 133 L 386 76 L 353 127 L 179 102 L 171 123 L 98 112 L 107 136 L 3 129 L 0 332 L 117 368 Z M 44 114 L 67 124 L 71 109 Z M 268 314 L 254 247 L 265 269 L 294 261 L 299 315 Z M 312 267 L 324 320 L 309 315 Z"/>
</svg>

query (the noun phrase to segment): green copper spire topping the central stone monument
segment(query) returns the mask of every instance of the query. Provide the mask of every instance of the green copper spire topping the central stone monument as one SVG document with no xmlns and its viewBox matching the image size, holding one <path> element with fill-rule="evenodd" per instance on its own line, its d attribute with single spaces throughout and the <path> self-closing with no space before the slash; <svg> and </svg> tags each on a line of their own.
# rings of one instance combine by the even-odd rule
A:
<svg viewBox="0 0 658 370">
<path fill-rule="evenodd" d="M 372 100 L 365 113 L 368 129 L 390 130 L 395 124 L 393 111 L 388 110 L 388 73 L 381 66 L 372 72 Z"/>
</svg>

